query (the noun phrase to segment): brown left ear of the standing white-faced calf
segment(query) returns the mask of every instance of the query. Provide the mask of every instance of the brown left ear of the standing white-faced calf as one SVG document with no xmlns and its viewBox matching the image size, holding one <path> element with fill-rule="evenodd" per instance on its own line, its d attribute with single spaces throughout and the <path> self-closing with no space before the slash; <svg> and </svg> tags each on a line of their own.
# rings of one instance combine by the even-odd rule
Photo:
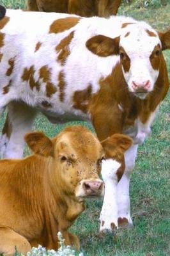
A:
<svg viewBox="0 0 170 256">
<path fill-rule="evenodd" d="M 86 42 L 86 47 L 89 51 L 97 54 L 100 57 L 107 57 L 113 54 L 118 54 L 120 44 L 120 36 L 110 38 L 104 35 L 93 36 Z"/>
</svg>

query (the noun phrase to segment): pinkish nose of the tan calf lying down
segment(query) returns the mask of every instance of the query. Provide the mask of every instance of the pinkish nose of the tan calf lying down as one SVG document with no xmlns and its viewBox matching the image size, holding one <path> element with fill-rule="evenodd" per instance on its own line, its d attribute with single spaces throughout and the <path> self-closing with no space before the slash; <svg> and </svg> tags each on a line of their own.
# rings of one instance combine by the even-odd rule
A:
<svg viewBox="0 0 170 256">
<path fill-rule="evenodd" d="M 102 180 L 84 181 L 82 184 L 86 195 L 100 195 L 103 189 Z"/>
</svg>

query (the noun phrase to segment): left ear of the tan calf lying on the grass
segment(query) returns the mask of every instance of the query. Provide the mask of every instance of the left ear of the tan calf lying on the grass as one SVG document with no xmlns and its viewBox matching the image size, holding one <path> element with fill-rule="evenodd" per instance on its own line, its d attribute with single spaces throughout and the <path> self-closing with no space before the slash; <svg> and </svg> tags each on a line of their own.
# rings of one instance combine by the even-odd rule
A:
<svg viewBox="0 0 170 256">
<path fill-rule="evenodd" d="M 42 132 L 31 132 L 24 136 L 27 145 L 35 154 L 41 156 L 53 156 L 52 141 L 47 138 Z"/>
</svg>

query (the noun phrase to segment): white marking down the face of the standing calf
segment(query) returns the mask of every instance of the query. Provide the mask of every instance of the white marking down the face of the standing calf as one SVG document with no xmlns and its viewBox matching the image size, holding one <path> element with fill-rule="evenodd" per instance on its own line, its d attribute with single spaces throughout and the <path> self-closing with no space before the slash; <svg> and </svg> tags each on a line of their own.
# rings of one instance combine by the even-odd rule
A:
<svg viewBox="0 0 170 256">
<path fill-rule="evenodd" d="M 120 40 L 120 46 L 123 47 L 128 57 L 130 58 L 130 69 L 128 72 L 122 67 L 125 80 L 128 84 L 128 90 L 135 92 L 133 84 L 137 85 L 137 88 L 143 89 L 146 85 L 146 92 L 153 90 L 154 84 L 157 81 L 158 70 L 154 70 L 150 56 L 156 45 L 160 44 L 158 36 L 150 36 L 146 30 L 153 32 L 157 35 L 157 32 L 153 30 L 145 22 L 138 22 L 137 24 L 130 24 L 125 28 L 125 35 L 130 32 L 128 36 L 123 36 Z M 137 97 L 144 99 L 147 93 L 139 92 Z"/>
</svg>

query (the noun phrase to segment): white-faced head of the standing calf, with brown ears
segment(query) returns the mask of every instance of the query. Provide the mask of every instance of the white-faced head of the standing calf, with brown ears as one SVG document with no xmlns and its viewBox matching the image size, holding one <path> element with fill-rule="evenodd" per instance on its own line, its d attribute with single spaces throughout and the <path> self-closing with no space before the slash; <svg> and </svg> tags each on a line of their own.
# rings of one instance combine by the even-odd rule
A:
<svg viewBox="0 0 170 256">
<path fill-rule="evenodd" d="M 160 33 L 145 22 L 132 20 L 122 24 L 117 38 L 97 35 L 86 42 L 86 47 L 98 56 L 119 54 L 129 92 L 144 99 L 154 90 L 164 65 L 162 51 L 170 49 L 170 29 Z"/>
</svg>

